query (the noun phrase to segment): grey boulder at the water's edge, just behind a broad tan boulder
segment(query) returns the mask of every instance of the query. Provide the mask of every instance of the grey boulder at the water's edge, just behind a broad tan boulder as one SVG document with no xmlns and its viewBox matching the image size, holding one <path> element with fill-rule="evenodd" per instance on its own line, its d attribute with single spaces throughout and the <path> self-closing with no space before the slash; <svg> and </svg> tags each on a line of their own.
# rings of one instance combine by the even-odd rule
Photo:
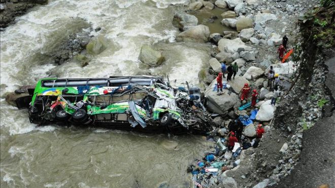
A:
<svg viewBox="0 0 335 188">
<path fill-rule="evenodd" d="M 185 30 L 185 27 L 194 27 L 198 24 L 198 19 L 194 15 L 185 12 L 177 12 L 173 17 L 172 23 L 175 27 Z"/>
</svg>

